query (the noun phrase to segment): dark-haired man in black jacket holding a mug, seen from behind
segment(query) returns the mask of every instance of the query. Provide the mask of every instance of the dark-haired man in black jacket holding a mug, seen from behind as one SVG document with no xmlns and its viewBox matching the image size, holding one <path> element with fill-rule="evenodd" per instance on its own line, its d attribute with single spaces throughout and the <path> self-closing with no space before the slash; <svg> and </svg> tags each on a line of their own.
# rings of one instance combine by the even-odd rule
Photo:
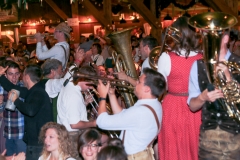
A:
<svg viewBox="0 0 240 160">
<path fill-rule="evenodd" d="M 23 83 L 25 87 L 12 84 L 3 74 L 8 67 L 0 67 L 0 83 L 6 91 L 15 89 L 20 91 L 22 102 L 15 91 L 10 91 L 9 97 L 17 106 L 17 109 L 24 114 L 24 136 L 23 140 L 27 144 L 27 159 L 36 160 L 42 150 L 42 145 L 38 143 L 38 134 L 41 127 L 53 120 L 52 106 L 50 98 L 45 91 L 44 84 L 40 82 L 42 70 L 38 65 L 28 65 L 23 73 Z M 13 96 L 11 96 L 13 94 Z"/>
</svg>

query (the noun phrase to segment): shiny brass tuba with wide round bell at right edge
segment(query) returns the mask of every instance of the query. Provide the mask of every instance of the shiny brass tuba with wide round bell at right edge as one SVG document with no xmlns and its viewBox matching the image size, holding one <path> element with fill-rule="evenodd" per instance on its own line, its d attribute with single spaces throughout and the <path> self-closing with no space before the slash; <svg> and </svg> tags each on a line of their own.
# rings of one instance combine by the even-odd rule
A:
<svg viewBox="0 0 240 160">
<path fill-rule="evenodd" d="M 218 63 L 223 63 L 232 74 L 240 73 L 240 67 L 232 62 L 219 62 L 221 39 L 224 30 L 234 26 L 237 19 L 222 12 L 207 12 L 195 15 L 189 19 L 189 25 L 198 28 L 203 33 L 204 63 L 207 78 L 211 84 L 222 90 L 224 98 L 217 99 L 215 108 L 226 110 L 228 116 L 240 121 L 240 112 L 237 104 L 240 103 L 240 89 L 236 81 L 227 82 L 223 71 L 215 68 Z M 208 91 L 214 90 L 213 85 L 208 85 Z"/>
</svg>

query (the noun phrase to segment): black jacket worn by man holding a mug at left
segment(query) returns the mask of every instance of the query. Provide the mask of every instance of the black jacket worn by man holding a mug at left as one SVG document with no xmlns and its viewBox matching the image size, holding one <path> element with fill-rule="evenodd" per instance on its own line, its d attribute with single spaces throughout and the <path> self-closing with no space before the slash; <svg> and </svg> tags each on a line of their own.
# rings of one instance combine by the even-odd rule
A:
<svg viewBox="0 0 240 160">
<path fill-rule="evenodd" d="M 16 99 L 14 104 L 24 115 L 23 140 L 30 146 L 40 145 L 38 136 L 41 127 L 53 121 L 52 104 L 45 91 L 45 83 L 40 81 L 30 90 L 12 84 L 5 76 L 0 77 L 0 83 L 6 91 L 11 89 L 20 91 L 20 97 L 24 99 L 24 102 Z"/>
</svg>

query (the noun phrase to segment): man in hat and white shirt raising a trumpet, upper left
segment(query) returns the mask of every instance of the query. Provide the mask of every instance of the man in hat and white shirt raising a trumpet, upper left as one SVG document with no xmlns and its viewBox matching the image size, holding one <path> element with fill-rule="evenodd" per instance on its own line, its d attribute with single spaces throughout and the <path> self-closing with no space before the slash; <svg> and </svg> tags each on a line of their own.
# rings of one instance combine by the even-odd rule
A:
<svg viewBox="0 0 240 160">
<path fill-rule="evenodd" d="M 37 58 L 39 60 L 45 60 L 48 58 L 54 58 L 62 62 L 62 67 L 65 70 L 69 57 L 69 44 L 67 39 L 70 38 L 71 28 L 64 22 L 60 23 L 54 31 L 54 38 L 57 39 L 58 43 L 55 44 L 51 49 L 48 50 L 45 41 L 40 33 L 35 35 L 37 39 Z"/>
</svg>

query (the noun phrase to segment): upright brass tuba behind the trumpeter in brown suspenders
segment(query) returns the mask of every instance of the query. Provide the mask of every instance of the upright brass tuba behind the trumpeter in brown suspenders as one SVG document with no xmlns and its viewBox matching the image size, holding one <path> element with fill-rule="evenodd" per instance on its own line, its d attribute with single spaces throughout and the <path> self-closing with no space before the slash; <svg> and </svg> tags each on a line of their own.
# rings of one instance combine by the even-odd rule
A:
<svg viewBox="0 0 240 160">
<path fill-rule="evenodd" d="M 133 79 L 137 79 L 138 75 L 132 58 L 131 50 L 131 31 L 135 27 L 123 29 L 121 31 L 112 32 L 108 35 L 116 52 L 113 52 L 113 60 L 117 72 L 125 71 L 126 74 Z M 122 83 L 123 85 L 125 82 Z M 121 94 L 124 97 L 126 107 L 133 106 L 135 103 L 134 94 L 126 88 L 121 88 Z"/>
</svg>

